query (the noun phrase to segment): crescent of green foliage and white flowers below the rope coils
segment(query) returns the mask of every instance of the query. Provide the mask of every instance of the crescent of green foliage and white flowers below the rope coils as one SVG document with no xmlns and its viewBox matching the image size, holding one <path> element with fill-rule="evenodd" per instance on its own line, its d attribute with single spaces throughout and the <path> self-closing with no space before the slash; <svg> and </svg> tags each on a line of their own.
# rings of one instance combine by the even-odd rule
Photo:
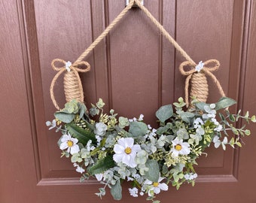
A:
<svg viewBox="0 0 256 203">
<path fill-rule="evenodd" d="M 58 141 L 62 156 L 71 157 L 76 170 L 83 173 L 81 181 L 93 175 L 105 184 L 96 193 L 99 198 L 108 186 L 114 199 L 120 200 L 121 183 L 128 179 L 133 181 L 131 195 L 138 195 L 141 189 L 149 195 L 148 200 L 159 203 L 154 200 L 158 184 L 171 183 L 176 189 L 185 182 L 194 186 L 194 165 L 210 144 L 223 150 L 226 145 L 242 147 L 241 137 L 251 135 L 251 131 L 237 122 L 255 123 L 256 117 L 242 111 L 231 114 L 227 108 L 234 104 L 231 98 L 221 98 L 215 104 L 194 99 L 193 108 L 186 109 L 184 99 L 178 98 L 174 108 L 164 105 L 157 110 L 160 126 L 152 129 L 142 122 L 142 115 L 130 122 L 126 117 L 117 117 L 113 109 L 104 114 L 101 98 L 89 111 L 84 103 L 72 100 L 55 113 L 56 120 L 46 125 L 62 132 Z"/>
</svg>

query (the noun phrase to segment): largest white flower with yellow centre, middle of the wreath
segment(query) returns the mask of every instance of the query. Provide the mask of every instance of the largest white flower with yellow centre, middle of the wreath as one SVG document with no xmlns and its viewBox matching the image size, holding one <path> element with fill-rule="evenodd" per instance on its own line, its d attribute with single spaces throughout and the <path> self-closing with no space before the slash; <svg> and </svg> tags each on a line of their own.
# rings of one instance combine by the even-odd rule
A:
<svg viewBox="0 0 256 203">
<path fill-rule="evenodd" d="M 117 163 L 123 162 L 131 168 L 135 168 L 137 166 L 135 162 L 136 153 L 142 150 L 139 144 L 133 145 L 133 138 L 120 138 L 117 143 L 114 144 L 114 161 Z"/>
</svg>

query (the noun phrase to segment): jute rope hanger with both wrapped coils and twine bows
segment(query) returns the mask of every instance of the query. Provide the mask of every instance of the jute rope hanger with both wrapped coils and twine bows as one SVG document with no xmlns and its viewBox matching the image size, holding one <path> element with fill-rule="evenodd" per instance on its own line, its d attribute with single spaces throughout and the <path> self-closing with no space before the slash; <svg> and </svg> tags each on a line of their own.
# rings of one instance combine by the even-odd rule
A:
<svg viewBox="0 0 256 203">
<path fill-rule="evenodd" d="M 152 14 L 148 11 L 145 6 L 143 6 L 139 0 L 132 0 L 130 1 L 129 5 L 126 6 L 126 8 L 123 9 L 123 11 L 120 12 L 120 14 L 109 24 L 109 26 L 102 32 L 101 35 L 99 35 L 98 38 L 96 38 L 95 41 L 93 41 L 90 46 L 84 50 L 83 53 L 81 53 L 81 56 L 76 59 L 76 61 L 73 64 L 70 64 L 70 62 L 65 62 L 62 59 L 54 59 L 51 63 L 53 69 L 55 71 L 59 71 L 55 77 L 53 77 L 53 80 L 50 84 L 50 98 L 52 99 L 53 105 L 56 107 L 56 109 L 60 110 L 59 105 L 56 102 L 53 89 L 54 85 L 56 83 L 57 78 L 59 77 L 62 72 L 65 72 L 64 75 L 64 92 L 66 95 L 66 102 L 70 102 L 72 99 L 77 99 L 78 102 L 84 102 L 84 92 L 83 87 L 81 84 L 81 79 L 78 75 L 78 72 L 87 72 L 90 71 L 90 64 L 88 62 L 84 62 L 83 59 L 99 44 L 100 41 L 102 41 L 103 38 L 105 38 L 106 35 L 111 31 L 111 29 L 114 28 L 114 26 L 125 16 L 125 14 L 130 11 L 130 9 L 133 7 L 134 3 L 138 5 L 138 7 L 148 16 L 148 18 L 151 20 L 152 23 L 154 23 L 155 26 L 160 30 L 160 32 L 163 34 L 163 36 L 166 37 L 166 39 L 175 47 L 176 50 L 178 50 L 179 53 L 181 53 L 182 56 L 184 56 L 185 59 L 187 59 L 186 62 L 182 62 L 179 69 L 181 71 L 181 74 L 187 75 L 187 79 L 185 82 L 185 102 L 187 106 L 189 105 L 189 83 L 191 85 L 191 92 L 190 96 L 197 97 L 197 99 L 200 102 L 206 102 L 206 99 L 208 97 L 208 84 L 206 80 L 206 74 L 209 75 L 209 77 L 212 78 L 212 80 L 215 82 L 216 86 L 218 87 L 219 92 L 221 93 L 221 96 L 225 96 L 224 91 L 221 87 L 221 84 L 218 82 L 217 78 L 214 74 L 212 74 L 211 71 L 215 71 L 219 68 L 220 63 L 218 60 L 211 59 L 206 61 L 203 64 L 203 68 L 200 71 L 196 71 L 197 64 L 194 62 L 193 59 L 188 56 L 188 54 L 181 48 L 181 46 L 172 38 L 171 35 L 166 31 L 166 29 L 163 28 L 163 26 L 152 16 Z M 62 63 L 64 66 L 57 68 L 56 62 Z M 215 64 L 212 68 L 206 68 L 205 65 L 211 65 Z M 86 66 L 86 69 L 79 68 L 80 66 Z M 184 71 L 184 67 L 189 66 L 190 71 Z"/>
</svg>

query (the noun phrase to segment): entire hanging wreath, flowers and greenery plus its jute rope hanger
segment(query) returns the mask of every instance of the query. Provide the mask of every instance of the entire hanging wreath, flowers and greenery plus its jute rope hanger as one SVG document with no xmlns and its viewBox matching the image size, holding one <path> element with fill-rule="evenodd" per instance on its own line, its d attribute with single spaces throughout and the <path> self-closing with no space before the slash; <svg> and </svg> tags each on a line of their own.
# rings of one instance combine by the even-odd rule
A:
<svg viewBox="0 0 256 203">
<path fill-rule="evenodd" d="M 159 123 L 157 129 L 145 123 L 142 114 L 132 119 L 117 117 L 113 109 L 105 114 L 102 98 L 88 108 L 84 104 L 84 93 L 78 74 L 90 71 L 89 63 L 82 59 L 108 35 L 134 3 L 187 59 L 180 65 L 181 74 L 187 75 L 185 99 L 178 98 L 178 102 L 164 105 L 156 111 Z M 60 63 L 63 65 L 58 68 L 56 64 Z M 186 66 L 190 67 L 190 71 L 184 71 Z M 223 150 L 226 145 L 242 147 L 241 137 L 250 135 L 251 132 L 245 126 L 237 128 L 236 123 L 239 119 L 247 123 L 256 122 L 255 116 L 250 117 L 248 112 L 245 115 L 241 111 L 231 114 L 228 110 L 236 101 L 224 95 L 220 83 L 212 74 L 212 71 L 218 69 L 219 62 L 209 60 L 195 64 L 138 0 L 130 1 L 77 61 L 72 64 L 62 59 L 54 59 L 52 67 L 59 71 L 50 85 L 53 105 L 58 111 L 54 114 L 54 120 L 47 121 L 46 125 L 49 129 L 62 133 L 58 141 L 59 149 L 62 150 L 62 156 L 71 158 L 75 170 L 82 174 L 81 182 L 95 177 L 102 183 L 103 186 L 96 192 L 100 198 L 105 195 L 105 188 L 109 187 L 113 198 L 120 200 L 123 181 L 131 183 L 127 191 L 130 195 L 148 195 L 147 199 L 154 203 L 159 202 L 154 200 L 155 195 L 168 190 L 169 185 L 176 189 L 182 183 L 191 183 L 194 186 L 197 178 L 194 165 L 197 164 L 197 158 L 205 154 L 204 150 L 211 144 L 215 148 L 222 147 Z M 60 109 L 54 98 L 53 87 L 62 73 L 65 73 L 64 90 L 67 102 L 65 108 Z M 221 98 L 214 104 L 206 103 L 206 75 L 212 78 L 221 93 Z"/>
</svg>

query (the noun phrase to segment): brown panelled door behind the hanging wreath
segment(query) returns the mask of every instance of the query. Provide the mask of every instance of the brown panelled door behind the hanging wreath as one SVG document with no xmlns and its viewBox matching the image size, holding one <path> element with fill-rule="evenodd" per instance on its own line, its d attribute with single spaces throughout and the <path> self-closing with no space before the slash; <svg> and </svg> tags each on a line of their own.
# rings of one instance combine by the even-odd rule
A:
<svg viewBox="0 0 256 203">
<path fill-rule="evenodd" d="M 218 59 L 215 72 L 237 109 L 256 112 L 256 2 L 253 0 L 145 0 L 145 7 L 199 62 Z M 95 180 L 79 183 L 68 159 L 60 159 L 59 135 L 47 130 L 56 111 L 50 101 L 55 58 L 73 61 L 124 8 L 117 0 L 3 0 L 0 2 L 1 189 L 2 203 L 114 202 L 94 195 Z M 85 102 L 103 98 L 120 116 L 145 115 L 184 95 L 178 65 L 184 58 L 135 8 L 86 59 L 81 75 Z M 56 100 L 64 103 L 62 81 Z M 210 82 L 209 102 L 218 90 Z M 236 109 L 233 109 L 236 111 Z M 242 125 L 242 123 L 240 123 Z M 244 147 L 208 150 L 199 160 L 196 186 L 162 192 L 162 202 L 256 202 L 256 126 Z M 125 187 L 127 189 L 127 186 Z M 125 190 L 123 189 L 123 190 Z M 123 192 L 124 193 L 124 192 Z M 127 192 L 126 192 L 127 194 Z M 123 194 L 122 202 L 142 201 Z"/>
</svg>

